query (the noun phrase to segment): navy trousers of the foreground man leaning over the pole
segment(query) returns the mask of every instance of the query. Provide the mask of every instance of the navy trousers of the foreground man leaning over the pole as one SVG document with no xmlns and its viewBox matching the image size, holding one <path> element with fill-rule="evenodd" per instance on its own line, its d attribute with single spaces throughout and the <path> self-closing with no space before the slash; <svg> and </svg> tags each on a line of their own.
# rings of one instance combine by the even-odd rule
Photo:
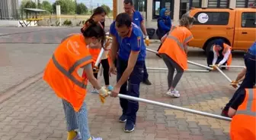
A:
<svg viewBox="0 0 256 140">
<path fill-rule="evenodd" d="M 123 75 L 124 70 L 128 65 L 128 61 L 122 60 L 122 58 L 117 58 L 117 82 Z M 139 98 L 139 85 L 143 80 L 143 70 L 145 66 L 145 61 L 137 61 L 133 72 L 130 74 L 128 79 L 128 84 L 125 82 L 120 88 L 120 94 L 129 95 L 136 98 Z M 128 90 L 127 90 L 128 85 Z M 139 110 L 139 102 L 127 100 L 120 98 L 120 106 L 123 109 L 123 115 L 126 116 L 126 120 L 136 123 L 136 113 Z"/>
</svg>

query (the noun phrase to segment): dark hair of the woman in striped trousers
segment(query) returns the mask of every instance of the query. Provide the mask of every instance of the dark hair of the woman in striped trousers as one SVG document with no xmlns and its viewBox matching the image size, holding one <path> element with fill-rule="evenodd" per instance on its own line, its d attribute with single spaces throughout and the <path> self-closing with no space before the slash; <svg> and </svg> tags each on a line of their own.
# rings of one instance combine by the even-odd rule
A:
<svg viewBox="0 0 256 140">
<path fill-rule="evenodd" d="M 82 32 L 82 34 L 85 36 L 85 38 L 95 37 L 97 39 L 101 39 L 101 46 L 104 45 L 106 34 L 100 24 L 94 23 L 93 21 L 89 26 L 85 27 L 85 30 Z"/>
</svg>

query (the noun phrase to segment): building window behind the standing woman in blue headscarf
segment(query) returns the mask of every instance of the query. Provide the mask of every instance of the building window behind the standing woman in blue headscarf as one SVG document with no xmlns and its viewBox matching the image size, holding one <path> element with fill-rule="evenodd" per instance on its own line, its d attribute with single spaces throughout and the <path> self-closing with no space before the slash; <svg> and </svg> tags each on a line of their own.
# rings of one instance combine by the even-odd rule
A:
<svg viewBox="0 0 256 140">
<path fill-rule="evenodd" d="M 171 11 L 170 17 L 174 16 L 174 0 L 153 0 L 153 19 L 158 19 L 162 8 Z"/>
</svg>

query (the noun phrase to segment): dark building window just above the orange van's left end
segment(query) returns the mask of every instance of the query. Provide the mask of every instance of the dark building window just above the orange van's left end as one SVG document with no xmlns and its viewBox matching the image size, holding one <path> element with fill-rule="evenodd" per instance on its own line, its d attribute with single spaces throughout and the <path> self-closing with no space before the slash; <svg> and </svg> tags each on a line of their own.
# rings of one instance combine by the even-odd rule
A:
<svg viewBox="0 0 256 140">
<path fill-rule="evenodd" d="M 180 3 L 180 18 L 183 14 L 185 14 L 189 9 L 193 8 L 201 8 L 202 0 L 181 0 Z"/>
</svg>

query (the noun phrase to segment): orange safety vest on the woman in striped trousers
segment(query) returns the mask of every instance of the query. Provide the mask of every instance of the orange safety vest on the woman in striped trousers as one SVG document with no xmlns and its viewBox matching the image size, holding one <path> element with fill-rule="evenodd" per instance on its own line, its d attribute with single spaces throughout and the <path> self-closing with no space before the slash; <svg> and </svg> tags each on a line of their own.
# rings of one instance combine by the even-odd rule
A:
<svg viewBox="0 0 256 140">
<path fill-rule="evenodd" d="M 43 79 L 56 95 L 72 104 L 75 111 L 82 107 L 88 83 L 88 79 L 79 76 L 77 70 L 91 62 L 84 36 L 76 34 L 56 48 L 43 73 Z"/>
</svg>

